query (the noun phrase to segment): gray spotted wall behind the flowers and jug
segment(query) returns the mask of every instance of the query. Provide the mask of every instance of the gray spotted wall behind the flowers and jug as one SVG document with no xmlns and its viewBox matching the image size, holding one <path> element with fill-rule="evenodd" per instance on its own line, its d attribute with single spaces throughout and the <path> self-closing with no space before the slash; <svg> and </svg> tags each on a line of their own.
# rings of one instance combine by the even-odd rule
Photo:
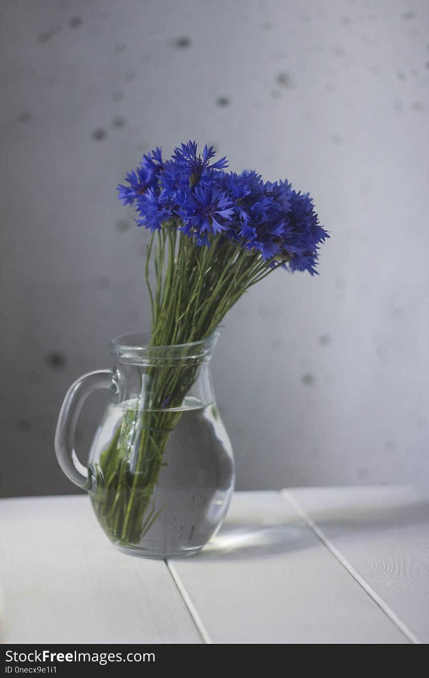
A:
<svg viewBox="0 0 429 678">
<path fill-rule="evenodd" d="M 427 1 L 3 0 L 0 23 L 1 495 L 76 490 L 66 388 L 148 325 L 115 186 L 188 138 L 310 191 L 331 232 L 319 278 L 278 271 L 225 319 L 239 489 L 427 488 Z"/>
</svg>

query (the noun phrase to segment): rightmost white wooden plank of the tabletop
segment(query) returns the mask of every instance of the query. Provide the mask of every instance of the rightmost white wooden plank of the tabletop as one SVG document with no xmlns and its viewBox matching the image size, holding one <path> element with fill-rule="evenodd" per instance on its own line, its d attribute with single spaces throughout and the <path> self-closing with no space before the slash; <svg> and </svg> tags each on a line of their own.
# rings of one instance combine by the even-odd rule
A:
<svg viewBox="0 0 429 678">
<path fill-rule="evenodd" d="M 429 642 L 429 502 L 411 487 L 288 490 L 414 642 Z M 371 590 L 370 590 L 371 589 Z"/>
</svg>

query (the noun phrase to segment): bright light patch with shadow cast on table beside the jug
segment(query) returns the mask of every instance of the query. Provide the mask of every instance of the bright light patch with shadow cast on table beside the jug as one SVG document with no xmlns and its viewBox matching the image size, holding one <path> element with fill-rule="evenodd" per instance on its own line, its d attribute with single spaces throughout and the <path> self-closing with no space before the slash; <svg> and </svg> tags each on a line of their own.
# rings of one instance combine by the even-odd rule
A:
<svg viewBox="0 0 429 678">
<path fill-rule="evenodd" d="M 197 555 L 198 559 L 213 561 L 268 558 L 281 553 L 299 551 L 314 546 L 314 534 L 308 527 L 290 524 L 224 525 Z"/>
</svg>

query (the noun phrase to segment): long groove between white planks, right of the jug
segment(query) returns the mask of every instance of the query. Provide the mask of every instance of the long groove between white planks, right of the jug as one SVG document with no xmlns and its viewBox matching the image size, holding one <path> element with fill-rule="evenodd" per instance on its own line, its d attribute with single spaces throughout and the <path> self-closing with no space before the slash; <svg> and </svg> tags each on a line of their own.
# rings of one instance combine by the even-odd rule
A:
<svg viewBox="0 0 429 678">
<path fill-rule="evenodd" d="M 363 588 L 365 593 L 369 595 L 370 598 L 373 599 L 374 603 L 378 605 L 378 607 L 383 610 L 384 614 L 388 616 L 391 622 L 397 628 L 399 631 L 401 631 L 405 637 L 410 641 L 410 643 L 413 643 L 415 645 L 421 645 L 422 643 L 420 640 L 418 640 L 413 633 L 405 626 L 404 622 L 399 619 L 396 614 L 394 614 L 393 610 L 390 610 L 390 607 L 384 602 L 384 600 L 372 589 L 372 587 L 365 581 L 363 577 L 359 574 L 359 572 L 356 572 L 354 570 L 354 567 L 350 565 L 350 563 L 346 560 L 344 555 L 342 555 L 341 551 L 337 549 L 337 547 L 331 542 L 331 540 L 325 535 L 323 530 L 320 529 L 320 527 L 317 527 L 316 523 L 312 520 L 310 515 L 305 511 L 305 509 L 302 508 L 301 504 L 298 502 L 295 497 L 290 494 L 287 490 L 281 490 L 280 491 L 281 496 L 283 499 L 285 499 L 289 504 L 291 504 L 292 508 L 295 509 L 295 511 L 298 512 L 299 515 L 301 515 L 306 523 L 308 524 L 308 527 L 311 528 L 311 530 L 314 532 L 317 538 L 326 546 L 326 548 L 331 551 L 332 555 L 338 560 L 339 563 L 347 570 L 348 574 L 350 574 L 354 580 Z"/>
</svg>

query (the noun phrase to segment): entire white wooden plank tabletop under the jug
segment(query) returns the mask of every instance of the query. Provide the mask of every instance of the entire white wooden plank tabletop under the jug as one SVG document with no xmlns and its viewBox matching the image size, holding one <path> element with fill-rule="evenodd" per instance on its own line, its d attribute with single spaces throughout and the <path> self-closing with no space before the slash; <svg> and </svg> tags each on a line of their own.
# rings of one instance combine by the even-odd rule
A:
<svg viewBox="0 0 429 678">
<path fill-rule="evenodd" d="M 199 554 L 119 553 L 85 496 L 0 500 L 3 643 L 428 643 L 409 487 L 239 492 Z"/>
</svg>

